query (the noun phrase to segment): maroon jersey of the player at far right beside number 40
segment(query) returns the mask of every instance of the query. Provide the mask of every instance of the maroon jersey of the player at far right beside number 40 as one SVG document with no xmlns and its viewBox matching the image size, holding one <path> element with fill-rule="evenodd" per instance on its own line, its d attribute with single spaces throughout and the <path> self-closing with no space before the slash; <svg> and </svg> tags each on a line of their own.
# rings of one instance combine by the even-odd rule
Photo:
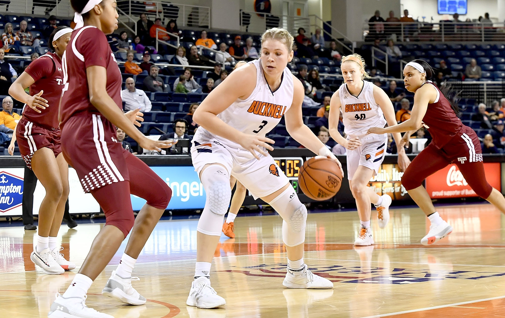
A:
<svg viewBox="0 0 505 318">
<path fill-rule="evenodd" d="M 463 123 L 452 110 L 450 102 L 445 98 L 437 85 L 431 81 L 426 82 L 433 85 L 437 90 L 437 99 L 434 103 L 428 104 L 428 110 L 423 117 L 423 125 L 428 128 L 432 143 L 438 149 L 446 145 L 453 137 L 461 135 Z"/>
</svg>

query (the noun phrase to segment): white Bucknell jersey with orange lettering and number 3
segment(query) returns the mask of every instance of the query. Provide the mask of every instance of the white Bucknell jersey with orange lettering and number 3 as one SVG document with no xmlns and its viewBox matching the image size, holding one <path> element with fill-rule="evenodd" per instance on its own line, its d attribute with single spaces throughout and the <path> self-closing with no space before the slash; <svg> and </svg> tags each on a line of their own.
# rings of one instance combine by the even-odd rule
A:
<svg viewBox="0 0 505 318">
<path fill-rule="evenodd" d="M 226 124 L 246 134 L 264 137 L 282 118 L 293 102 L 293 77 L 286 67 L 279 88 L 272 92 L 263 73 L 261 59 L 251 61 L 256 67 L 256 87 L 246 99 L 235 100 L 230 107 L 217 116 Z M 240 83 L 237 83 L 240 85 Z M 235 142 L 215 136 L 203 127 L 196 130 L 195 139 L 213 138 L 231 147 L 241 148 Z M 208 140 L 209 140 L 208 139 Z"/>
</svg>

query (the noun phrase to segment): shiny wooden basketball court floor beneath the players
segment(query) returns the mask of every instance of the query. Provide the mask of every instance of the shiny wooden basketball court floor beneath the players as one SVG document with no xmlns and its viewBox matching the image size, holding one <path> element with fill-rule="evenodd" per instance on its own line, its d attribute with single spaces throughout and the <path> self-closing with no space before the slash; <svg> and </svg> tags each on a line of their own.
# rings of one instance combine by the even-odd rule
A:
<svg viewBox="0 0 505 318">
<path fill-rule="evenodd" d="M 429 225 L 420 209 L 393 209 L 385 229 L 372 214 L 376 244 L 355 247 L 356 211 L 309 214 L 305 260 L 334 282 L 332 290 L 282 286 L 286 254 L 277 215 L 239 217 L 224 235 L 211 281 L 221 309 L 186 306 L 194 274 L 197 220 L 162 221 L 139 256 L 133 286 L 148 299 L 128 306 L 100 294 L 126 246 L 91 286 L 87 305 L 116 318 L 170 317 L 505 317 L 505 216 L 490 204 L 439 208 L 454 231 L 434 246 L 419 242 Z M 104 224 L 62 226 L 65 254 L 82 264 Z M 46 317 L 77 269 L 45 275 L 29 259 L 35 231 L 0 228 L 1 316 Z M 68 254 L 67 254 L 68 255 Z"/>
</svg>

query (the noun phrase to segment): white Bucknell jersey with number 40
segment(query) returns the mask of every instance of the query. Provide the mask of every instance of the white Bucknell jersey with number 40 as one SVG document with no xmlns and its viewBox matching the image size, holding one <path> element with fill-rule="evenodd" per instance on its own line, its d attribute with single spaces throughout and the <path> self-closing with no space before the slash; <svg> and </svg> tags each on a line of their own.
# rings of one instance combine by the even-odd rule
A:
<svg viewBox="0 0 505 318">
<path fill-rule="evenodd" d="M 344 132 L 350 136 L 363 136 L 370 127 L 384 127 L 386 125 L 382 109 L 375 102 L 374 84 L 367 81 L 364 83 L 358 96 L 351 95 L 345 83 L 339 89 Z"/>
</svg>

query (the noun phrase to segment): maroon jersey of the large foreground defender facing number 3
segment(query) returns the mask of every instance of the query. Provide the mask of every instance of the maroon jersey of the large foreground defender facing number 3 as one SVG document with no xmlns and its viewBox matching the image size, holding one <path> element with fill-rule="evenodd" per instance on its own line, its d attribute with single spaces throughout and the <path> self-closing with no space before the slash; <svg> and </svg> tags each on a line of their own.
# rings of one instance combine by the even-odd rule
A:
<svg viewBox="0 0 505 318">
<path fill-rule="evenodd" d="M 123 108 L 121 71 L 104 32 L 89 25 L 74 30 L 63 55 L 62 65 L 65 87 L 60 104 L 61 127 L 77 113 L 99 113 L 89 101 L 86 75 L 86 68 L 89 66 L 96 65 L 106 68 L 107 93 L 120 109 Z"/>
</svg>

